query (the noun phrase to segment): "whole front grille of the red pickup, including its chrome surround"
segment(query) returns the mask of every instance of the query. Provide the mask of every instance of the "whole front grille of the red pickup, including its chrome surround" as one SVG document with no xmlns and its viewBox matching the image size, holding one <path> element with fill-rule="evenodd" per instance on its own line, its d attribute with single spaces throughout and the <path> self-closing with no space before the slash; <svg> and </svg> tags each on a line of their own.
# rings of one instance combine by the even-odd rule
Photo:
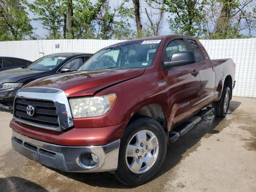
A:
<svg viewBox="0 0 256 192">
<path fill-rule="evenodd" d="M 57 88 L 21 88 L 13 114 L 18 122 L 44 129 L 63 131 L 74 125 L 66 93 Z"/>
</svg>

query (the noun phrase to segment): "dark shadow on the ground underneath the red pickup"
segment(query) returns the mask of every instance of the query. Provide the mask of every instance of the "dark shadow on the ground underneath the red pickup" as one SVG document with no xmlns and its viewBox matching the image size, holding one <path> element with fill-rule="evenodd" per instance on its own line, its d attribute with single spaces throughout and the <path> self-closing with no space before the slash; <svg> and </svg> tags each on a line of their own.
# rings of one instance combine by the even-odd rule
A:
<svg viewBox="0 0 256 192">
<path fill-rule="evenodd" d="M 231 101 L 230 102 L 230 111 L 228 114 L 231 114 L 240 106 L 240 102 Z M 218 134 L 225 126 L 228 126 L 228 120 L 225 121 L 224 125 L 221 128 L 216 129 L 219 123 L 224 118 L 215 117 L 213 114 L 206 117 L 202 122 L 199 122 L 188 134 L 179 138 L 173 144 L 170 144 L 167 148 L 166 158 L 161 169 L 158 171 L 154 179 L 160 177 L 162 174 L 171 170 L 176 166 L 180 160 L 184 157 L 184 154 L 189 150 L 193 152 L 198 146 L 200 146 L 199 141 L 204 136 L 210 136 L 212 134 Z M 55 169 L 54 169 L 55 170 Z M 118 182 L 113 174 L 102 172 L 102 173 L 66 173 L 59 170 L 56 172 L 67 176 L 73 180 L 83 182 L 90 186 L 99 186 L 104 188 L 134 188 L 126 186 Z M 154 181 L 153 181 L 154 182 Z"/>
</svg>

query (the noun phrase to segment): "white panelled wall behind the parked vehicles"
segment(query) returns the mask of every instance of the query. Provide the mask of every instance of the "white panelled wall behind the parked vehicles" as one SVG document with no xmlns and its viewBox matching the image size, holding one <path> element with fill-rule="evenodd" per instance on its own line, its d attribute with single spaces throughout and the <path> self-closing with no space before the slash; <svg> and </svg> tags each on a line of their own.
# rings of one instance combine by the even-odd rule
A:
<svg viewBox="0 0 256 192">
<path fill-rule="evenodd" d="M 57 52 L 95 53 L 123 40 L 30 40 L 0 42 L 0 56 L 34 61 Z M 256 38 L 200 40 L 211 59 L 232 58 L 236 63 L 235 96 L 256 97 Z M 59 48 L 56 48 L 59 44 Z"/>
</svg>

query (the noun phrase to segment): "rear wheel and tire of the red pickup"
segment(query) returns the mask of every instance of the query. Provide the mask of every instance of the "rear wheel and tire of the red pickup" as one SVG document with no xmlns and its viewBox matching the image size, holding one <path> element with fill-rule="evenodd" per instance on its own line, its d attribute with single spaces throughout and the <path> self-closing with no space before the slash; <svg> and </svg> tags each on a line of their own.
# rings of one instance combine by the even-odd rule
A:
<svg viewBox="0 0 256 192">
<path fill-rule="evenodd" d="M 217 117 L 225 117 L 228 113 L 230 104 L 231 92 L 229 87 L 224 87 L 220 100 L 213 102 L 212 107 L 214 108 L 213 114 Z"/>
</svg>

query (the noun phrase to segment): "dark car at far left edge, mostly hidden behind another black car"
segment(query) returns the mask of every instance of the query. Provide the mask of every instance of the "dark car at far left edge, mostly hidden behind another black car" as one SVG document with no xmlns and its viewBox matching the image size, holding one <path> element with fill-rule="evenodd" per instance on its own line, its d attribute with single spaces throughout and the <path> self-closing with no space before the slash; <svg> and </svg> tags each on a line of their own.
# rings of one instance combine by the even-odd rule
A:
<svg viewBox="0 0 256 192">
<path fill-rule="evenodd" d="M 15 57 L 0 57 L 0 71 L 24 67 L 29 65 L 30 63 L 32 63 L 32 61 L 26 59 L 20 59 Z"/>
</svg>

